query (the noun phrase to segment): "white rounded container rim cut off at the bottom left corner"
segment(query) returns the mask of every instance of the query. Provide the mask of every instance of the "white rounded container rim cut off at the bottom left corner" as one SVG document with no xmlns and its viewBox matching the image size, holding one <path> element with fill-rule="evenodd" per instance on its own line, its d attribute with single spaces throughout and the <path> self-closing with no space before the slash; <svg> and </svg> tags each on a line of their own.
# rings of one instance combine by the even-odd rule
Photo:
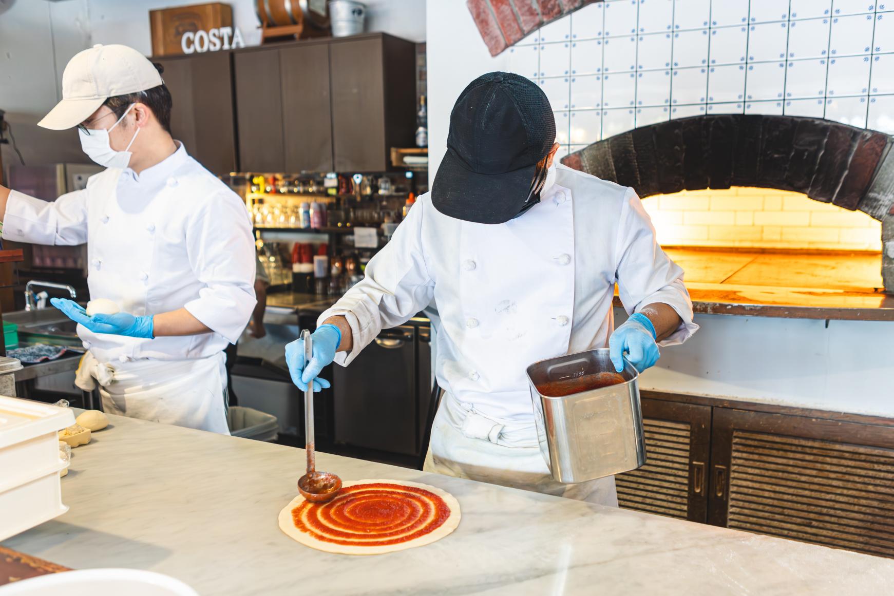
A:
<svg viewBox="0 0 894 596">
<path fill-rule="evenodd" d="M 186 583 L 138 569 L 82 569 L 6 585 L 4 596 L 198 596 Z"/>
</svg>

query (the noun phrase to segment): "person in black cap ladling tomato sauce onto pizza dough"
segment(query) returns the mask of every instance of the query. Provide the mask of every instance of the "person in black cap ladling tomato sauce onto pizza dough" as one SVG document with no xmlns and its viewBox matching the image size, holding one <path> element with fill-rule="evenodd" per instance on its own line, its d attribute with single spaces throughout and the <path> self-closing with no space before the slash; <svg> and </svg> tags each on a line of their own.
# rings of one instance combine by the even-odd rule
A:
<svg viewBox="0 0 894 596">
<path fill-rule="evenodd" d="M 633 189 L 553 164 L 555 121 L 530 80 L 491 72 L 451 113 L 434 185 L 366 277 L 320 316 L 313 358 L 286 348 L 304 389 L 331 362 L 349 365 L 385 328 L 434 300 L 435 374 L 443 399 L 426 470 L 617 505 L 614 478 L 561 484 L 537 444 L 525 370 L 609 344 L 640 370 L 658 344 L 696 332 L 683 272 L 655 241 Z M 613 329 L 615 283 L 631 313 Z"/>
</svg>

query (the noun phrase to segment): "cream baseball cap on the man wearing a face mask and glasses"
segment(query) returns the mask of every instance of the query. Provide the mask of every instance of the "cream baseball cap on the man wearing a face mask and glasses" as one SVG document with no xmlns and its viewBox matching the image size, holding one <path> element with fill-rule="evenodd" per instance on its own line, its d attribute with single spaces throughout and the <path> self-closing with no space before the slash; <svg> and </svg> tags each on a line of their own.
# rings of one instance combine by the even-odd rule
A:
<svg viewBox="0 0 894 596">
<path fill-rule="evenodd" d="M 38 126 L 71 129 L 96 112 L 109 97 L 145 91 L 164 84 L 148 58 L 128 46 L 97 44 L 74 55 L 62 75 L 62 101 Z"/>
</svg>

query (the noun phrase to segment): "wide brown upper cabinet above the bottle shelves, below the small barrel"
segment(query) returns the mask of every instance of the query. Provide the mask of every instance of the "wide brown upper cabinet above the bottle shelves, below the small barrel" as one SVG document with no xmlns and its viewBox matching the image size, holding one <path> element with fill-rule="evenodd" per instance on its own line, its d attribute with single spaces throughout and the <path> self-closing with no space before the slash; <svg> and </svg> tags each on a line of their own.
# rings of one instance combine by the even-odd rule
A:
<svg viewBox="0 0 894 596">
<path fill-rule="evenodd" d="M 416 46 L 384 33 L 233 53 L 244 172 L 382 172 L 412 147 Z"/>
</svg>

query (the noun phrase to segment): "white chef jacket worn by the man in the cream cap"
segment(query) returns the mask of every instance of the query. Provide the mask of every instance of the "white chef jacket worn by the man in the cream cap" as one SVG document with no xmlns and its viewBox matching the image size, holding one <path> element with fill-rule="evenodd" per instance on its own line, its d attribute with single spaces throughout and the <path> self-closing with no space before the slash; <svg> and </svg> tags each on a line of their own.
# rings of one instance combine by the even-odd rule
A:
<svg viewBox="0 0 894 596">
<path fill-rule="evenodd" d="M 236 193 L 177 150 L 139 174 L 108 168 L 87 188 L 42 201 L 12 191 L 3 238 L 48 245 L 88 243 L 92 298 L 131 315 L 185 307 L 212 333 L 152 340 L 78 335 L 97 360 L 182 360 L 213 356 L 235 343 L 255 306 L 255 246 Z"/>
</svg>

